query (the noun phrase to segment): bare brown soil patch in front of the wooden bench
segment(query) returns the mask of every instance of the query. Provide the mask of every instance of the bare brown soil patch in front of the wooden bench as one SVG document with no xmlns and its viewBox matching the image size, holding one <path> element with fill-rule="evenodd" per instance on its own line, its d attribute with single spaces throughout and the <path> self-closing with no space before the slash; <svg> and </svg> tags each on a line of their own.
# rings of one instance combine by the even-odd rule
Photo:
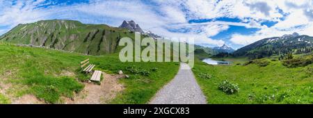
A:
<svg viewBox="0 0 313 118">
<path fill-rule="evenodd" d="M 74 96 L 73 99 L 65 99 L 68 104 L 101 104 L 108 103 L 111 99 L 121 92 L 124 87 L 118 83 L 119 78 L 124 75 L 110 75 L 102 72 L 104 80 L 101 85 L 95 83 L 84 83 L 84 89 Z"/>
</svg>

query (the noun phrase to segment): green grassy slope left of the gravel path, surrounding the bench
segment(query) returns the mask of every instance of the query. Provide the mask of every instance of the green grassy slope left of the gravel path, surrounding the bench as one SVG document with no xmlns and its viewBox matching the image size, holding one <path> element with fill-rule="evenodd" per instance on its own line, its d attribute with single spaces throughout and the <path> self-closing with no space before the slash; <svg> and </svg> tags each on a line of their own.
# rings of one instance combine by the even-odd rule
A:
<svg viewBox="0 0 313 118">
<path fill-rule="evenodd" d="M 177 73 L 179 65 L 174 62 L 125 62 L 117 54 L 108 56 L 83 56 L 77 53 L 65 53 L 49 49 L 15 47 L 0 44 L 0 81 L 12 83 L 8 94 L 22 96 L 34 94 L 49 103 L 62 103 L 61 96 L 71 97 L 79 92 L 83 85 L 75 78 L 79 62 L 90 58 L 97 65 L 95 69 L 116 73 L 122 69 L 130 78 L 121 79 L 126 89 L 112 103 L 146 103 L 165 83 Z M 150 71 L 149 76 L 132 74 L 127 67 Z M 74 75 L 67 75 L 70 72 Z M 105 78 L 104 78 L 105 79 Z M 20 89 L 22 88 L 22 89 Z M 5 96 L 0 96 L 2 103 L 8 103 Z"/>
</svg>

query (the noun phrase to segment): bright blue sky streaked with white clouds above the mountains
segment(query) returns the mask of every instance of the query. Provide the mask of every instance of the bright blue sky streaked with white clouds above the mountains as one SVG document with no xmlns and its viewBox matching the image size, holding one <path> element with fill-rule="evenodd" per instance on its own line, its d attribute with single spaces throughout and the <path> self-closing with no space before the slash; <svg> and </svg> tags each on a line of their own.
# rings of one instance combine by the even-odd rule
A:
<svg viewBox="0 0 313 118">
<path fill-rule="evenodd" d="M 265 37 L 313 35 L 312 6 L 310 0 L 0 0 L 0 35 L 45 19 L 111 26 L 134 20 L 163 37 L 238 49 Z"/>
</svg>

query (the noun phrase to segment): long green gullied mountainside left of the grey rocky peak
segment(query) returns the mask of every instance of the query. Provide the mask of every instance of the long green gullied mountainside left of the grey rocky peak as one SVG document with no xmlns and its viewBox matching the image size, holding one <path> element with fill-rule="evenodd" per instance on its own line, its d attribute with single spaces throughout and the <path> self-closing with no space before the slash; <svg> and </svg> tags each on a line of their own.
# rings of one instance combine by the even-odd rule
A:
<svg viewBox="0 0 313 118">
<path fill-rule="evenodd" d="M 19 24 L 1 35 L 0 41 L 102 55 L 114 53 L 121 37 L 134 39 L 134 33 L 125 28 L 104 24 L 81 24 L 77 21 L 56 19 Z"/>
</svg>

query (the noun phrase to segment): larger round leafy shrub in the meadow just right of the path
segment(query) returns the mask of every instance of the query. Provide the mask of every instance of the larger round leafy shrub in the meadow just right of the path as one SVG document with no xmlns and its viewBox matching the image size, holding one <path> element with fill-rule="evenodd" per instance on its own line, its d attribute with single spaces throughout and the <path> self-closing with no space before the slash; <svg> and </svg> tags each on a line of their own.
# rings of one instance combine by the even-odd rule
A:
<svg viewBox="0 0 313 118">
<path fill-rule="evenodd" d="M 239 92 L 238 84 L 230 83 L 230 81 L 225 80 L 220 85 L 218 85 L 218 90 L 222 90 L 226 94 L 235 94 Z"/>
</svg>

